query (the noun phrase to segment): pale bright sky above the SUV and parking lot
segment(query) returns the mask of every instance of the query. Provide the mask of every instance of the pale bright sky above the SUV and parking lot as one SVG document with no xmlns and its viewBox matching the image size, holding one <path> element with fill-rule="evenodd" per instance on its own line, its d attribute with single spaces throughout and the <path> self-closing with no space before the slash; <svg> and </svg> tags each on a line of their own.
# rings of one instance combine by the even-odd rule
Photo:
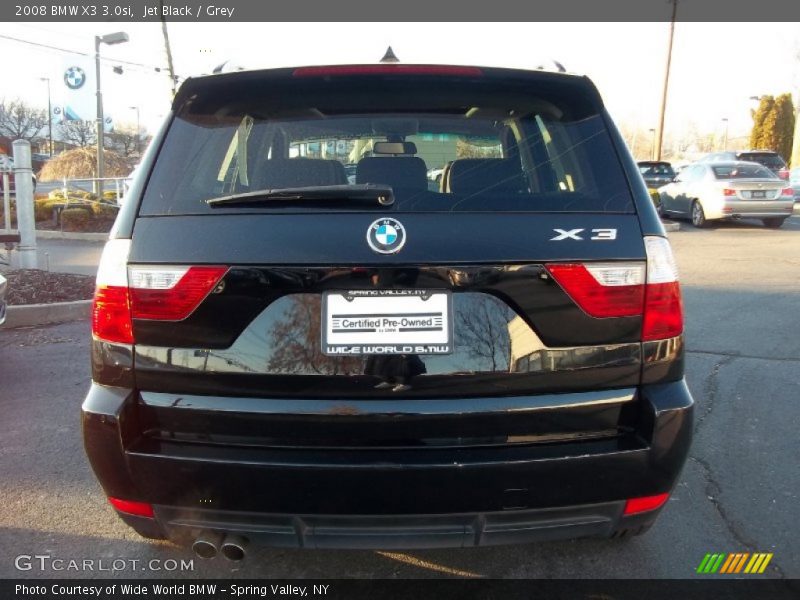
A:
<svg viewBox="0 0 800 600">
<path fill-rule="evenodd" d="M 101 80 L 107 115 L 154 131 L 169 110 L 170 82 L 160 23 L 0 23 L 6 83 L 0 97 L 47 105 L 63 84 L 56 50 L 93 53 L 94 36 L 123 30 L 130 41 L 103 46 Z M 169 23 L 175 72 L 209 73 L 232 60 L 246 67 L 377 62 L 391 45 L 401 62 L 535 68 L 558 60 L 589 76 L 614 120 L 657 126 L 669 23 Z M 745 41 L 746 50 L 735 46 Z M 755 43 L 751 43 L 755 42 Z M 115 61 L 124 73 L 115 74 Z M 154 67 L 162 68 L 157 73 Z M 9 73 L 10 71 L 10 73 Z M 747 136 L 751 96 L 800 91 L 800 23 L 677 23 L 665 135 L 692 128 L 729 139 Z"/>
</svg>

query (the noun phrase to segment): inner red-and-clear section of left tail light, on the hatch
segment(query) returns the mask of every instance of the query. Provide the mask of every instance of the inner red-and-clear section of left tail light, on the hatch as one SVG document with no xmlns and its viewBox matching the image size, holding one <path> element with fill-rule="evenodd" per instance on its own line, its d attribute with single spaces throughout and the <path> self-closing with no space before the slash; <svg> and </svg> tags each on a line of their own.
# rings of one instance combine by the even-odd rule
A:
<svg viewBox="0 0 800 600">
<path fill-rule="evenodd" d="M 223 278 L 228 267 L 131 266 L 128 269 L 134 319 L 181 321 Z"/>
</svg>

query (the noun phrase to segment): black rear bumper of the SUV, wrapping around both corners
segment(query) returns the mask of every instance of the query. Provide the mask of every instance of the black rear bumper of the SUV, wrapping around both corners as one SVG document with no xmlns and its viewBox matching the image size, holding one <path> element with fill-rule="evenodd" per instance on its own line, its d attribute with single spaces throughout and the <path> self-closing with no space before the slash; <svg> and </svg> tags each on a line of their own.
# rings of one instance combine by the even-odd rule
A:
<svg viewBox="0 0 800 600">
<path fill-rule="evenodd" d="M 625 500 L 675 485 L 693 401 L 683 381 L 638 394 L 640 427 L 631 435 L 513 447 L 154 442 L 134 434 L 136 395 L 97 385 L 83 426 L 106 493 L 154 505 L 154 519 L 121 515 L 148 537 L 188 541 L 220 530 L 273 546 L 460 547 L 649 526 L 658 511 L 623 516 Z"/>
</svg>

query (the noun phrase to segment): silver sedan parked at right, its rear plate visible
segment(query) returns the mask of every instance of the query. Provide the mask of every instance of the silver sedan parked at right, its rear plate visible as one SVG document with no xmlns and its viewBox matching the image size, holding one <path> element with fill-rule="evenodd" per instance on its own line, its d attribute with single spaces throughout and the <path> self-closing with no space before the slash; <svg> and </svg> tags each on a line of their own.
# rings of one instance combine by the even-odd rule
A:
<svg viewBox="0 0 800 600">
<path fill-rule="evenodd" d="M 792 189 L 775 173 L 741 161 L 689 165 L 658 192 L 662 215 L 690 218 L 695 227 L 755 218 L 777 229 L 791 216 L 794 202 Z"/>
</svg>

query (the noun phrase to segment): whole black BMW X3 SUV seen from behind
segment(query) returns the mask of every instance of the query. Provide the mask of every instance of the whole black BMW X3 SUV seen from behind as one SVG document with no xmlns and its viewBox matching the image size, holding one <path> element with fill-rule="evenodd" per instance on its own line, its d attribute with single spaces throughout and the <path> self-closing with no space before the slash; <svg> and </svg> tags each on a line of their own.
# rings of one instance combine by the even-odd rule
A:
<svg viewBox="0 0 800 600">
<path fill-rule="evenodd" d="M 85 447 L 126 523 L 206 557 L 633 535 L 689 449 L 682 334 L 587 78 L 199 77 L 103 252 Z"/>
</svg>

